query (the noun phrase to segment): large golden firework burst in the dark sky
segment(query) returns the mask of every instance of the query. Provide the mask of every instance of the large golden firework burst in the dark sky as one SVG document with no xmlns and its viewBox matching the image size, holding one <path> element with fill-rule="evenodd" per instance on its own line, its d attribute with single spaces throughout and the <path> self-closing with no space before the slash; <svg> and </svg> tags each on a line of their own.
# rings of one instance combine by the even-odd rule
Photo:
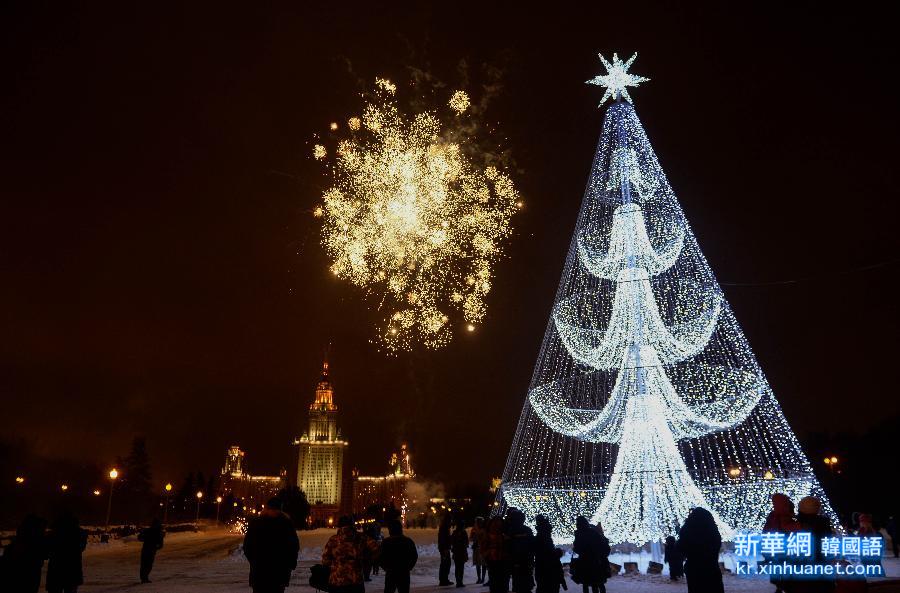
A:
<svg viewBox="0 0 900 593">
<path fill-rule="evenodd" d="M 376 79 L 376 99 L 348 120 L 348 135 L 314 152 L 333 155 L 333 185 L 315 210 L 331 271 L 378 300 L 388 352 L 439 348 L 454 328 L 484 320 L 492 268 L 521 205 L 508 175 L 448 139 L 438 112 L 407 116 L 395 93 Z M 454 93 L 451 117 L 469 104 Z"/>
</svg>

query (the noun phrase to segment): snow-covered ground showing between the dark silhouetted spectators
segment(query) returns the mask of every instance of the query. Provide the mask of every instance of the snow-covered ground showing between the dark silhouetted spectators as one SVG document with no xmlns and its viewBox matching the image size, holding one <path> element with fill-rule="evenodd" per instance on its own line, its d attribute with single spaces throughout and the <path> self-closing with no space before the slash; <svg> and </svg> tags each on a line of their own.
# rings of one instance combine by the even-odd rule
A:
<svg viewBox="0 0 900 593">
<path fill-rule="evenodd" d="M 314 593 L 309 587 L 309 567 L 319 562 L 322 546 L 334 533 L 333 530 L 304 531 L 300 533 L 300 563 L 291 579 L 291 589 Z M 419 548 L 419 562 L 413 571 L 412 586 L 420 593 L 437 593 L 455 591 L 453 587 L 437 586 L 437 570 L 439 556 L 437 552 L 437 533 L 433 529 L 411 529 L 409 535 Z M 122 591 L 139 588 L 142 593 L 187 593 L 221 592 L 248 593 L 248 565 L 240 551 L 242 537 L 229 533 L 225 529 L 209 529 L 199 533 L 174 533 L 166 537 L 166 545 L 156 558 L 156 565 L 150 578 L 153 583 L 139 585 L 138 565 L 140 543 L 133 537 L 124 538 L 110 544 L 91 544 L 85 552 L 84 574 L 85 584 L 80 592 Z M 888 575 L 900 577 L 900 561 L 893 558 L 885 560 Z M 451 573 L 452 578 L 452 573 Z M 748 579 L 725 575 L 725 590 L 735 592 L 773 591 L 772 585 L 765 579 Z M 466 568 L 466 591 L 469 593 L 487 593 L 487 588 L 475 585 L 475 570 L 470 565 Z M 887 585 L 888 583 L 883 583 Z M 900 591 L 900 580 L 891 583 Z M 289 591 L 291 590 L 289 589 Z M 383 591 L 384 578 L 375 575 L 372 582 L 366 584 L 370 593 Z M 581 587 L 569 583 L 569 589 L 580 593 Z M 878 588 L 887 592 L 893 588 Z M 627 593 L 636 591 L 679 593 L 687 591 L 684 582 L 672 583 L 665 575 L 615 576 L 607 583 L 610 593 Z"/>
</svg>

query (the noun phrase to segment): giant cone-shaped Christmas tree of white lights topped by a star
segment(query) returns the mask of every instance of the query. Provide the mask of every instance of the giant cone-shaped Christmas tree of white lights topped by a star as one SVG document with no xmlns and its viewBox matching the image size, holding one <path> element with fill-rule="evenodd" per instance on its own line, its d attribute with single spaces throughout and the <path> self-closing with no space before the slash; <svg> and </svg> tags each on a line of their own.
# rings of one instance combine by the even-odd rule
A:
<svg viewBox="0 0 900 593">
<path fill-rule="evenodd" d="M 600 56 L 606 110 L 575 233 L 500 490 L 570 539 L 674 535 L 695 506 L 725 539 L 770 496 L 823 499 L 631 105 L 647 80 Z M 624 100 L 623 100 L 624 99 Z"/>
</svg>

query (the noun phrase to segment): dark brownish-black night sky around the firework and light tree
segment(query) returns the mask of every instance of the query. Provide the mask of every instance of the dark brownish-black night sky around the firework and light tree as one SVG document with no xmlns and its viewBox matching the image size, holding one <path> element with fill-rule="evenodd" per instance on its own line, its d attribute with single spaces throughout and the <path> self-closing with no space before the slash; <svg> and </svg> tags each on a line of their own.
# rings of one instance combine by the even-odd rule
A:
<svg viewBox="0 0 900 593">
<path fill-rule="evenodd" d="M 801 441 L 900 412 L 888 15 L 259 4 L 0 9 L 4 437 L 105 466 L 144 435 L 158 481 L 233 443 L 274 472 L 331 342 L 352 465 L 381 471 L 407 440 L 420 474 L 499 475 L 600 132 L 600 51 L 639 52 L 637 112 Z M 525 208 L 486 323 L 386 358 L 328 273 L 310 154 L 375 76 L 414 93 L 410 68 L 473 97 L 501 73 L 489 119 Z"/>
</svg>

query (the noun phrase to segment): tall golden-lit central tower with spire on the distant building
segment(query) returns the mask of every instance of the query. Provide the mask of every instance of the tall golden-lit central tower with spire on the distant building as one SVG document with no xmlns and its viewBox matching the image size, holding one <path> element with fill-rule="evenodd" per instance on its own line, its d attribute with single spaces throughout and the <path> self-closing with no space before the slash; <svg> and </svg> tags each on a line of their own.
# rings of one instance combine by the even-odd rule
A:
<svg viewBox="0 0 900 593">
<path fill-rule="evenodd" d="M 338 429 L 337 412 L 326 360 L 309 406 L 309 428 L 294 440 L 299 450 L 297 486 L 306 493 L 314 524 L 333 523 L 341 510 L 344 452 L 349 443 Z"/>
</svg>

